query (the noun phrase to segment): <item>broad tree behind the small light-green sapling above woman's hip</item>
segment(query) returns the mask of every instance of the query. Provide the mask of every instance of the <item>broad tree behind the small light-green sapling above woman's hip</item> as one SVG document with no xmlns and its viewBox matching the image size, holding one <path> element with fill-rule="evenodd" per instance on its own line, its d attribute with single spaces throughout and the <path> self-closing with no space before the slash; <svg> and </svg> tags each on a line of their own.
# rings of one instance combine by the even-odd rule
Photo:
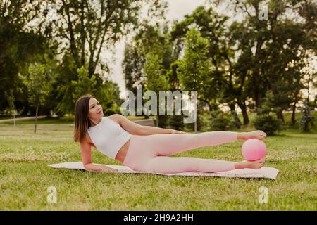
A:
<svg viewBox="0 0 317 225">
<path fill-rule="evenodd" d="M 125 44 L 125 58 L 123 60 L 123 71 L 125 73 L 125 87 L 136 95 L 137 86 L 146 86 L 147 75 L 144 72 L 148 55 L 158 55 L 161 75 L 169 80 L 170 65 L 177 60 L 173 54 L 173 42 L 170 41 L 168 23 L 163 25 L 149 21 L 139 27 L 132 41 Z M 148 79 L 149 80 L 149 79 Z M 172 91 L 175 87 L 170 86 Z M 158 115 L 156 122 L 159 126 L 167 125 L 168 116 Z"/>
</svg>

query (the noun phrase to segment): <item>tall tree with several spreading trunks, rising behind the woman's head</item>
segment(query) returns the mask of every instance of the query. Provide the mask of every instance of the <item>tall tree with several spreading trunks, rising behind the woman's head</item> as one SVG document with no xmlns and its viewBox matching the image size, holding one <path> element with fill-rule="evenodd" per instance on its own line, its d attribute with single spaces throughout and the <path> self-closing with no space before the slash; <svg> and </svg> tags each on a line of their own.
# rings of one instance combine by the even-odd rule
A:
<svg viewBox="0 0 317 225">
<path fill-rule="evenodd" d="M 74 86 L 70 81 L 77 79 L 77 69 L 87 68 L 88 77 L 96 76 L 97 86 L 102 86 L 110 70 L 102 53 L 113 51 L 117 41 L 139 27 L 142 10 L 147 13 L 145 18 L 159 17 L 165 1 L 61 0 L 49 4 L 56 6 L 55 20 L 46 25 L 51 27 L 49 37 L 58 42 L 61 56 L 67 61 L 61 63 L 60 77 L 54 84 L 58 91 L 53 95 L 58 96 L 56 110 L 63 114 L 73 111 L 69 101 Z"/>
</svg>

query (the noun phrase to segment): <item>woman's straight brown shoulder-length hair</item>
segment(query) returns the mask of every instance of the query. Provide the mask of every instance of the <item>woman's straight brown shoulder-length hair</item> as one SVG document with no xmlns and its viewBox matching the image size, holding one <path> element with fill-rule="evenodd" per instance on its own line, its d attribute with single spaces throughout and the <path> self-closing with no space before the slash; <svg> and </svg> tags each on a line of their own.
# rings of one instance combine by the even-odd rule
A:
<svg viewBox="0 0 317 225">
<path fill-rule="evenodd" d="M 81 142 L 85 139 L 88 127 L 90 127 L 89 113 L 89 100 L 94 98 L 92 95 L 85 95 L 78 98 L 75 105 L 75 128 L 74 128 L 74 141 Z"/>
</svg>

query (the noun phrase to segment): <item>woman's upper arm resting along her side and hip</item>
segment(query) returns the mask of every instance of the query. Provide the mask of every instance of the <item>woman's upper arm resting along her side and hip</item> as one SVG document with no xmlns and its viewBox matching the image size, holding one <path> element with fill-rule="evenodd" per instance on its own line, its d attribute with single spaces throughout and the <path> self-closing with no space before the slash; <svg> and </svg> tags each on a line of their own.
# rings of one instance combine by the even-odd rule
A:
<svg viewBox="0 0 317 225">
<path fill-rule="evenodd" d="M 123 127 L 123 129 L 125 129 L 125 131 L 128 131 L 130 134 L 135 134 L 135 135 L 186 134 L 183 131 L 176 131 L 175 129 L 142 126 L 128 120 L 127 118 L 125 118 L 123 115 L 120 115 L 120 114 L 113 114 L 109 117 L 111 117 L 111 119 L 113 118 L 114 120 L 116 120 L 116 122 L 118 122 L 120 126 Z"/>
</svg>

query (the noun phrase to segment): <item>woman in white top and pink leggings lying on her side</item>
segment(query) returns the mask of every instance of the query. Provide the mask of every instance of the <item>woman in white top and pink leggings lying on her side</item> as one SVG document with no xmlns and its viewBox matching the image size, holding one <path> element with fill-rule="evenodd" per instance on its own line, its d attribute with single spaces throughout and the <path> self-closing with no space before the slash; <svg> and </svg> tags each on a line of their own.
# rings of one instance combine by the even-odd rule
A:
<svg viewBox="0 0 317 225">
<path fill-rule="evenodd" d="M 116 159 L 136 171 L 178 172 L 222 172 L 232 169 L 263 167 L 264 160 L 230 162 L 192 157 L 168 157 L 175 153 L 216 146 L 236 140 L 264 139 L 263 131 L 230 132 L 213 131 L 187 134 L 173 129 L 141 126 L 114 114 L 104 117 L 101 105 L 91 95 L 82 96 L 75 105 L 74 140 L 80 142 L 82 163 L 86 170 L 94 172 L 116 172 L 104 165 L 92 163 L 91 147 Z"/>
</svg>

